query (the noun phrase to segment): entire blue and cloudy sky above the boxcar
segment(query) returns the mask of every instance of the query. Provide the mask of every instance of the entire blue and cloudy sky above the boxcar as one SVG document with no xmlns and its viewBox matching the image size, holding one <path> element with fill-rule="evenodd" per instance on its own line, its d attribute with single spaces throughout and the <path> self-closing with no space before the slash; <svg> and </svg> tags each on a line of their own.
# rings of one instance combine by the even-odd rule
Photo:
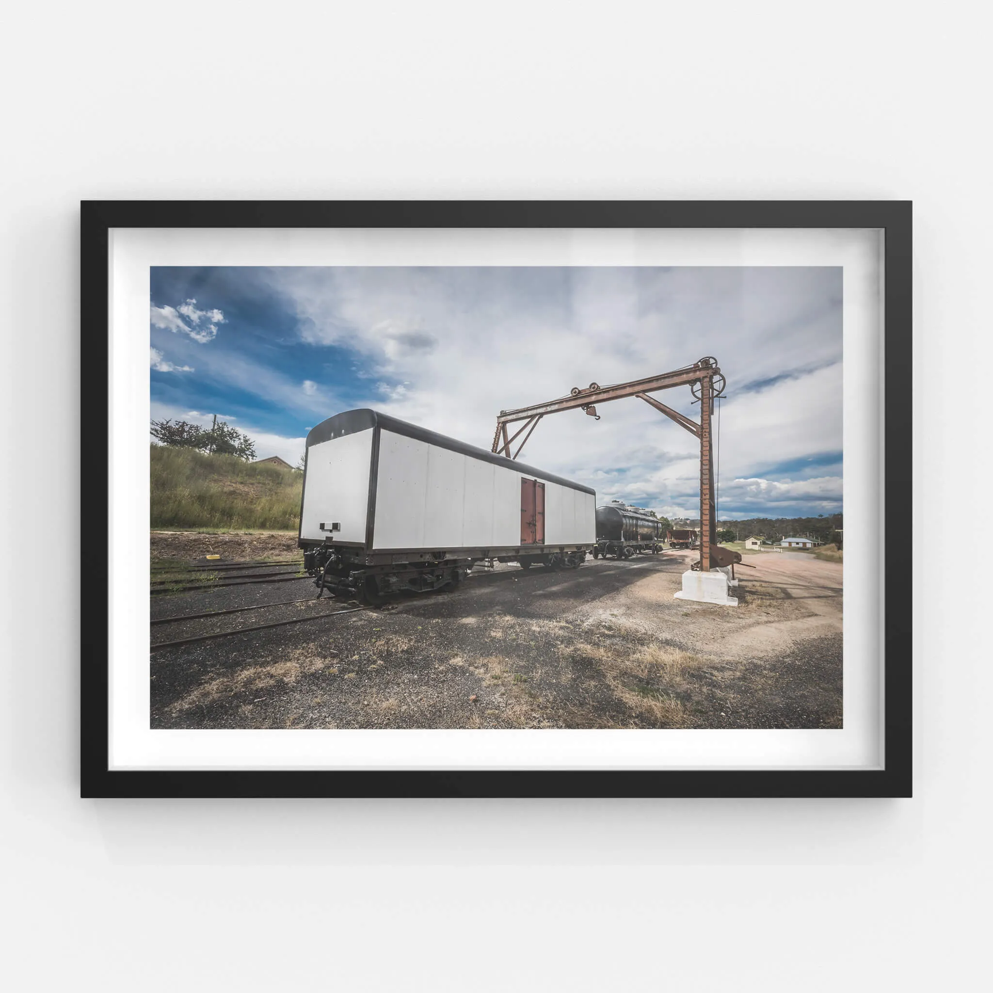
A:
<svg viewBox="0 0 993 993">
<path fill-rule="evenodd" d="M 153 268 L 152 416 L 220 418 L 292 465 L 373 407 L 489 449 L 500 409 L 714 355 L 719 516 L 840 510 L 840 268 Z M 689 387 L 656 393 L 698 419 Z M 699 514 L 696 439 L 637 398 L 546 417 L 521 461 Z M 716 416 L 716 415 L 715 415 Z"/>
</svg>

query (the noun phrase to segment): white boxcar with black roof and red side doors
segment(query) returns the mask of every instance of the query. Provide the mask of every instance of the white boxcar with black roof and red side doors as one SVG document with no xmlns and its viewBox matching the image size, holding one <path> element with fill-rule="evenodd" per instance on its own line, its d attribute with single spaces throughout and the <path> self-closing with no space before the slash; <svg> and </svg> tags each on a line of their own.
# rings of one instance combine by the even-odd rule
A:
<svg viewBox="0 0 993 993">
<path fill-rule="evenodd" d="M 298 544 L 323 591 L 369 603 L 458 585 L 481 560 L 577 568 L 596 492 L 374 410 L 307 436 Z"/>
</svg>

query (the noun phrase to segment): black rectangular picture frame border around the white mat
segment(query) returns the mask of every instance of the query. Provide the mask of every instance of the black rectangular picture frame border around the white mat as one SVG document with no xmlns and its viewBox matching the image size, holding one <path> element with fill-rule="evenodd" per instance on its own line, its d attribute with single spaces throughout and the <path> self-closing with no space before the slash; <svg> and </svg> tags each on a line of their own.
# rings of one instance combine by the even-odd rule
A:
<svg viewBox="0 0 993 993">
<path fill-rule="evenodd" d="M 885 230 L 885 768 L 859 771 L 158 772 L 108 769 L 109 233 L 123 227 L 679 227 Z M 80 792 L 216 796 L 911 796 L 912 205 L 908 201 L 84 201 L 81 205 Z M 884 586 L 885 588 L 885 586 Z"/>
</svg>

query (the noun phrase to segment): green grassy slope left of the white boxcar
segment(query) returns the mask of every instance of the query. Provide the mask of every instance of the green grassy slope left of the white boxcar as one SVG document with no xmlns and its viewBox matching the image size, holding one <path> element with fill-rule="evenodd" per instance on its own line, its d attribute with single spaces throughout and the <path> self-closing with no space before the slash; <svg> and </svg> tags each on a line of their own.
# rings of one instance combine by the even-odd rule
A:
<svg viewBox="0 0 993 993">
<path fill-rule="evenodd" d="M 295 531 L 303 474 L 152 445 L 153 528 Z"/>
</svg>

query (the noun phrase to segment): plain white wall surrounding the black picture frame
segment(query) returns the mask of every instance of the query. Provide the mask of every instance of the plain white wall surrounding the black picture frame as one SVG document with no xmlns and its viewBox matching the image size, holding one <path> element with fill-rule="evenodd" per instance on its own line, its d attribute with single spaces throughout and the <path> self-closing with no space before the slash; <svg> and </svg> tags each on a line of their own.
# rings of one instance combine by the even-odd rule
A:
<svg viewBox="0 0 993 993">
<path fill-rule="evenodd" d="M 864 0 L 9 7 L 10 987 L 878 993 L 987 981 L 981 556 L 923 545 L 906 577 L 913 800 L 84 802 L 74 566 L 59 581 L 43 572 L 42 556 L 71 555 L 36 526 L 77 515 L 82 197 L 913 198 L 919 410 L 927 402 L 913 496 L 922 517 L 963 493 L 982 505 L 987 18 L 974 3 Z M 897 577 L 894 595 L 906 589 Z"/>
</svg>

